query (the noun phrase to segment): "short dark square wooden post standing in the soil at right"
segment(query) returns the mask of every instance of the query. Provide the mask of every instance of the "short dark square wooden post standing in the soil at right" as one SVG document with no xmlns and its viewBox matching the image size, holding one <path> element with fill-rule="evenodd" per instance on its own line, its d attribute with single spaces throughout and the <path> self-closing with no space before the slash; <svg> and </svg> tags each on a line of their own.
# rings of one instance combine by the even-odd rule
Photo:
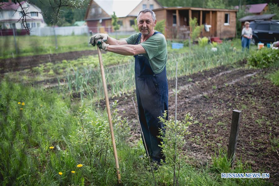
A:
<svg viewBox="0 0 279 186">
<path fill-rule="evenodd" d="M 231 126 L 231 134 L 230 134 L 229 146 L 228 146 L 228 158 L 231 161 L 231 166 L 233 166 L 235 160 L 240 117 L 241 117 L 241 111 L 238 110 L 232 111 L 232 126 Z"/>
</svg>

